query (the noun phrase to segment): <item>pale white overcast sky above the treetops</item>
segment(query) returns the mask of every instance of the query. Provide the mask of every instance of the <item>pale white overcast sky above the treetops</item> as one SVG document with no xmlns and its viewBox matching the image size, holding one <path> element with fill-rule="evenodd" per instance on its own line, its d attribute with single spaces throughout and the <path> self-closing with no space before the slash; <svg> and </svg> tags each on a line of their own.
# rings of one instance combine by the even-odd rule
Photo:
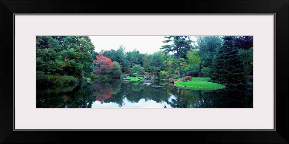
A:
<svg viewBox="0 0 289 144">
<path fill-rule="evenodd" d="M 117 50 L 119 45 L 125 47 L 125 52 L 138 50 L 141 54 L 153 54 L 159 51 L 160 48 L 167 43 L 162 41 L 167 40 L 165 36 L 89 36 L 91 42 L 95 46 L 95 51 L 101 50 Z M 196 40 L 194 36 L 191 36 L 192 40 Z M 192 43 L 193 45 L 193 43 Z"/>
</svg>

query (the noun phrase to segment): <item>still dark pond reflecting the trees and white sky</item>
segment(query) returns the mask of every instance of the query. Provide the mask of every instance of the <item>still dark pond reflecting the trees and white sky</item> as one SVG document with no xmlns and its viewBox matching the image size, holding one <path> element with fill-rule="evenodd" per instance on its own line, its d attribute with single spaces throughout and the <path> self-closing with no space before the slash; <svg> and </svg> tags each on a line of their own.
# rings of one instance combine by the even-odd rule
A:
<svg viewBox="0 0 289 144">
<path fill-rule="evenodd" d="M 188 90 L 164 81 L 114 80 L 37 88 L 36 108 L 253 108 L 253 90 Z"/>
</svg>

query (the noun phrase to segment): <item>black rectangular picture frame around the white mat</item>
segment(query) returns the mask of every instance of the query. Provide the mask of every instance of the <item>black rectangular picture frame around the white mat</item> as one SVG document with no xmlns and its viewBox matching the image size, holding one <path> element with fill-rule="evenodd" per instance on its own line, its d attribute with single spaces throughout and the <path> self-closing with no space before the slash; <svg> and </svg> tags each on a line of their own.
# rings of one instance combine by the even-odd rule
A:
<svg viewBox="0 0 289 144">
<path fill-rule="evenodd" d="M 289 1 L 2 1 L 1 143 L 288 143 Z M 133 5 L 133 7 L 131 6 Z M 14 131 L 14 13 L 275 14 L 273 131 Z M 278 66 L 278 67 L 277 67 Z M 13 77 L 13 81 L 12 81 Z M 3 80 L 4 78 L 4 80 Z M 172 122 L 176 124 L 181 121 Z M 200 124 L 202 124 L 200 122 Z M 140 132 L 141 131 L 141 132 Z M 163 137 L 166 135 L 167 137 Z M 187 136 L 189 135 L 189 137 Z M 123 139 L 113 138 L 122 136 Z M 92 142 L 91 142 L 92 141 Z"/>
</svg>

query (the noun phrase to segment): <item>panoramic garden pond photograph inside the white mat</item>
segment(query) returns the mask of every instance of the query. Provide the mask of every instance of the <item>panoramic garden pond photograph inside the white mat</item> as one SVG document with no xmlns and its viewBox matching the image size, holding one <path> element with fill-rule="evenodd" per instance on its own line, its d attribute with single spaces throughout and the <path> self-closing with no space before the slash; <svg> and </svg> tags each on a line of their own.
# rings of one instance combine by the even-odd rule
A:
<svg viewBox="0 0 289 144">
<path fill-rule="evenodd" d="M 253 36 L 36 36 L 36 108 L 253 108 Z"/>
</svg>

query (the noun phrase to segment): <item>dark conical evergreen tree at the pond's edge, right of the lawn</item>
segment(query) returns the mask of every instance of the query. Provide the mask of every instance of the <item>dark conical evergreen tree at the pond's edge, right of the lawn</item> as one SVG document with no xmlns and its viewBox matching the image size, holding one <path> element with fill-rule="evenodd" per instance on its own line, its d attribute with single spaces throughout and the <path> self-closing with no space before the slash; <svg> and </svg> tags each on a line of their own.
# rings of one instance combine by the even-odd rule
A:
<svg viewBox="0 0 289 144">
<path fill-rule="evenodd" d="M 210 82 L 227 87 L 242 87 L 245 84 L 244 64 L 234 43 L 235 37 L 223 37 L 223 46 L 213 59 Z"/>
</svg>

